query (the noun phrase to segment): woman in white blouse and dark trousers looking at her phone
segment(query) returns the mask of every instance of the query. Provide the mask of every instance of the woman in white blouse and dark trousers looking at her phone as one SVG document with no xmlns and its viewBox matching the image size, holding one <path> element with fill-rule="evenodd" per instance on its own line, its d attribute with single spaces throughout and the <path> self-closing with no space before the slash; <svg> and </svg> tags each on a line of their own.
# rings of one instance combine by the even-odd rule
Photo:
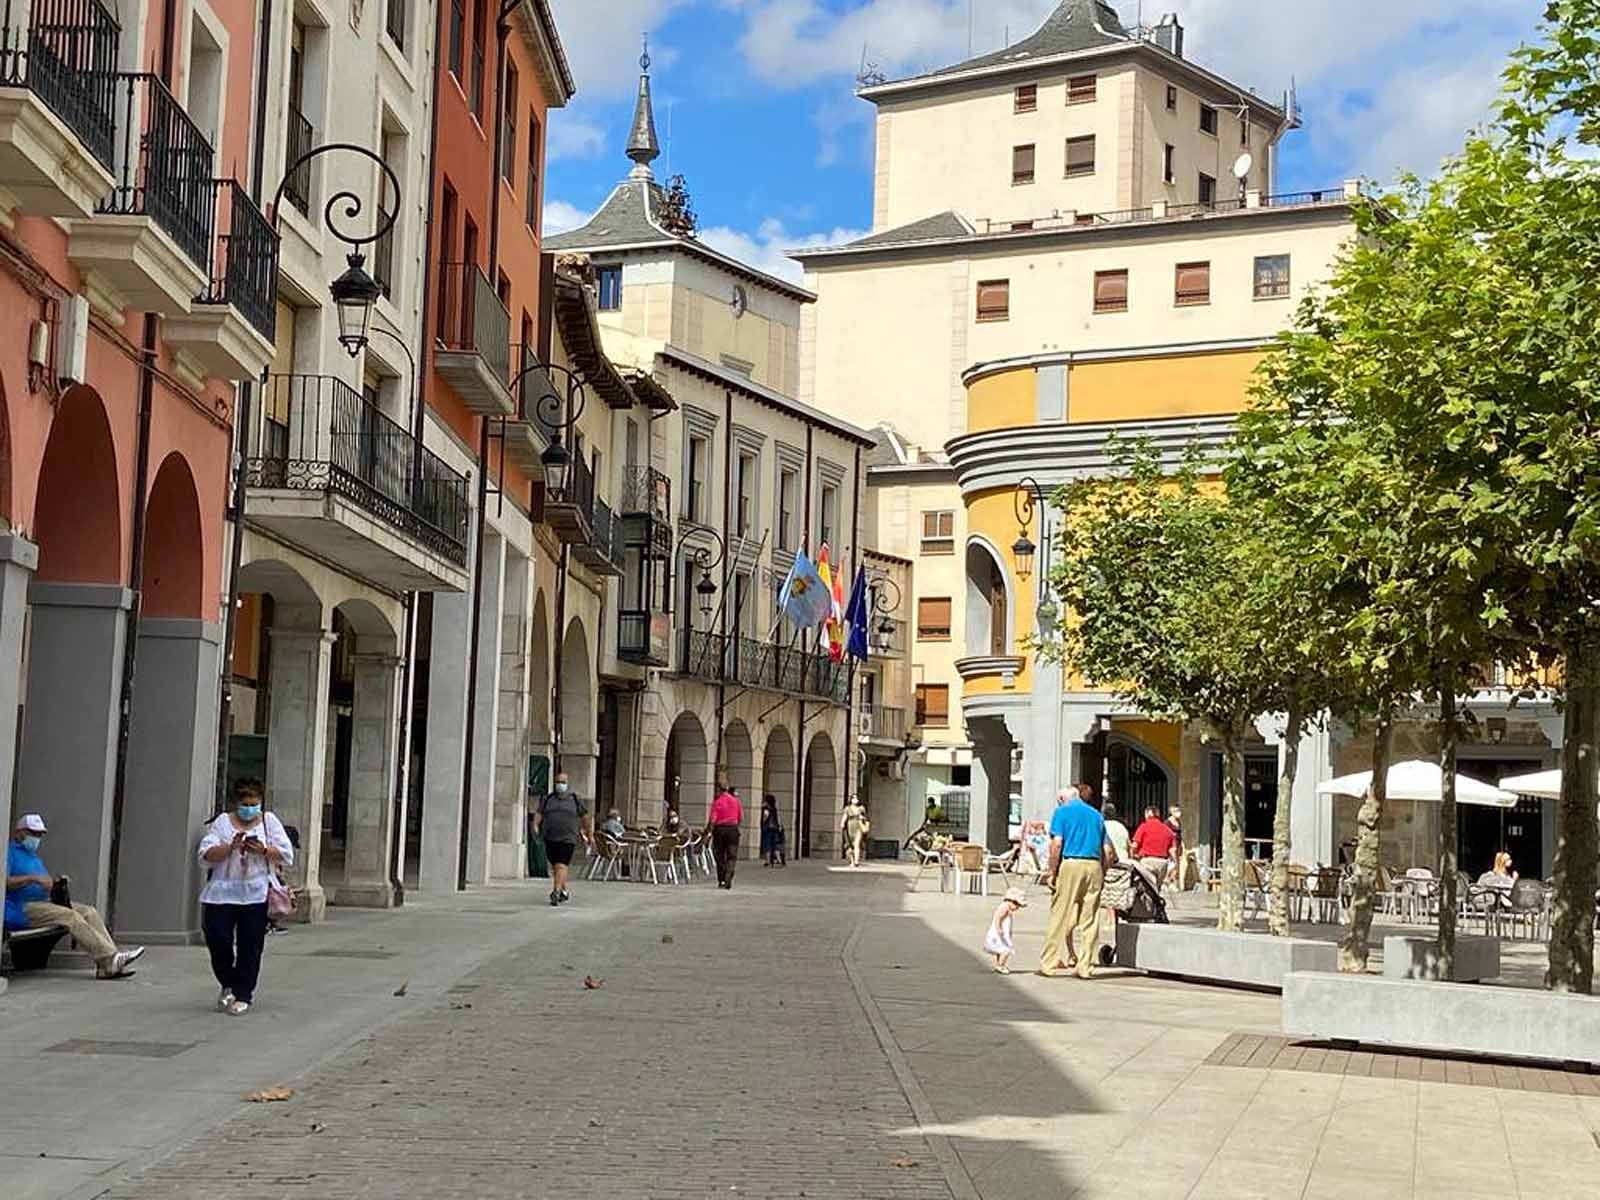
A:
<svg viewBox="0 0 1600 1200">
<path fill-rule="evenodd" d="M 262 811 L 261 781 L 234 784 L 234 811 L 218 816 L 200 838 L 200 926 L 211 950 L 211 973 L 222 990 L 216 1006 L 243 1016 L 256 997 L 261 947 L 267 941 L 267 888 L 278 867 L 294 862 L 283 822 Z"/>
</svg>

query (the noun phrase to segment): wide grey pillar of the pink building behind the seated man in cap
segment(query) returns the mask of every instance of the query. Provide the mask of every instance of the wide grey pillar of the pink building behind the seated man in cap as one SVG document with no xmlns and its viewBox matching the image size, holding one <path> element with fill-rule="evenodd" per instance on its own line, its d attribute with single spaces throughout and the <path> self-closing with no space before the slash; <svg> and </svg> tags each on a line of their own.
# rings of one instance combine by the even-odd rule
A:
<svg viewBox="0 0 1600 1200">
<path fill-rule="evenodd" d="M 14 806 L 45 818 L 45 861 L 54 874 L 72 877 L 72 898 L 104 909 L 123 638 L 133 592 L 117 584 L 35 579 L 29 602 L 27 699 Z"/>
</svg>

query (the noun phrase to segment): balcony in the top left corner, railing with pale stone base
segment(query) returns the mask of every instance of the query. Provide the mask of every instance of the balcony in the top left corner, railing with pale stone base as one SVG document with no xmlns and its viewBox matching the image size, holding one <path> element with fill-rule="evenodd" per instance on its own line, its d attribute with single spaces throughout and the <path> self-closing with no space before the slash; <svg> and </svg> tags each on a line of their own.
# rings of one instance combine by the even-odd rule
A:
<svg viewBox="0 0 1600 1200">
<path fill-rule="evenodd" d="M 120 37 L 99 0 L 3 0 L 0 190 L 24 213 L 86 218 L 110 190 Z"/>
</svg>

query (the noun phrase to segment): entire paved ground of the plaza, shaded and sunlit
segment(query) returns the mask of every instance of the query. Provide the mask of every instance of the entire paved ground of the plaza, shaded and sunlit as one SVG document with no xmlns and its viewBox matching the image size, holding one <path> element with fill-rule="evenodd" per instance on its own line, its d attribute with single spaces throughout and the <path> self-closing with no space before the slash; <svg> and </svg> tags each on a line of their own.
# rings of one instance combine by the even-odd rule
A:
<svg viewBox="0 0 1600 1200">
<path fill-rule="evenodd" d="M 733 893 L 579 883 L 552 910 L 534 885 L 334 910 L 272 939 L 238 1021 L 210 1011 L 198 949 L 152 949 L 125 984 L 13 979 L 0 1195 L 1600 1189 L 1592 1077 L 1299 1053 L 1274 1037 L 1274 995 L 1000 978 L 976 952 L 992 899 L 909 878 L 747 866 Z M 1019 965 L 1043 917 L 1021 914 Z M 269 1086 L 294 1094 L 242 1099 Z"/>
</svg>

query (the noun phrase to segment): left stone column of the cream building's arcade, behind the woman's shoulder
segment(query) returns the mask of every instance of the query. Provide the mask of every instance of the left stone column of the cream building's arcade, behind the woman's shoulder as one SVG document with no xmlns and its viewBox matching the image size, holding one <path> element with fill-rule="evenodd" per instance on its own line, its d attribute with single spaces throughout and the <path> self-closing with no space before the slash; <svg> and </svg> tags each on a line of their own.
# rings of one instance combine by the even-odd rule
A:
<svg viewBox="0 0 1600 1200">
<path fill-rule="evenodd" d="M 326 779 L 328 672 L 334 634 L 326 629 L 269 629 L 272 709 L 267 715 L 267 803 L 299 829 L 290 885 L 304 893 L 299 920 L 320 922 L 322 805 Z"/>
</svg>

